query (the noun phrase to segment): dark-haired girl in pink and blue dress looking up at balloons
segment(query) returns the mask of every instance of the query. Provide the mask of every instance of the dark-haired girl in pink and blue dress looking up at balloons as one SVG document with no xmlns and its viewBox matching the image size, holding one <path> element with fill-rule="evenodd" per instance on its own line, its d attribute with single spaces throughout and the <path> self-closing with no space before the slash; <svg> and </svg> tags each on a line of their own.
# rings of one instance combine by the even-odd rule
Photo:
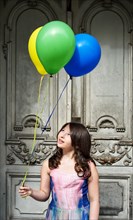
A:
<svg viewBox="0 0 133 220">
<path fill-rule="evenodd" d="M 91 138 L 83 124 L 69 122 L 57 134 L 57 152 L 45 160 L 40 190 L 20 187 L 22 197 L 46 201 L 46 220 L 98 220 L 99 178 L 90 156 Z"/>
</svg>

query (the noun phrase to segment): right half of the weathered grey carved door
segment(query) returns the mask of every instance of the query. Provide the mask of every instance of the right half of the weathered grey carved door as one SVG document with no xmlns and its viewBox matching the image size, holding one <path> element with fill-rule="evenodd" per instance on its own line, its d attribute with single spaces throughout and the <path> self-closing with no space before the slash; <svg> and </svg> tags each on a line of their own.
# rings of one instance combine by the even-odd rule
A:
<svg viewBox="0 0 133 220">
<path fill-rule="evenodd" d="M 102 48 L 99 65 L 73 83 L 72 118 L 83 121 L 92 134 L 92 157 L 100 173 L 100 219 L 106 220 L 133 217 L 132 9 L 129 2 L 78 1 L 80 16 L 73 16 L 77 31 L 91 33 Z"/>
</svg>

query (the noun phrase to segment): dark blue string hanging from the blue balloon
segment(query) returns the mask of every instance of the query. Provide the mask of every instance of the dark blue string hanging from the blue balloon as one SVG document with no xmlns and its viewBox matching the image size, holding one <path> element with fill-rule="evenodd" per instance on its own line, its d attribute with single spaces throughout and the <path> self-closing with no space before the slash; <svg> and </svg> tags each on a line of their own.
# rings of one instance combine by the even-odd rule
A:
<svg viewBox="0 0 133 220">
<path fill-rule="evenodd" d="M 59 97 L 58 97 L 58 99 L 57 99 L 57 102 L 56 102 L 56 104 L 55 104 L 55 106 L 54 106 L 52 112 L 50 113 L 50 115 L 49 115 L 49 117 L 48 117 L 48 120 L 47 120 L 45 126 L 42 128 L 42 133 L 41 133 L 41 135 L 42 135 L 43 132 L 46 130 L 47 125 L 48 125 L 48 123 L 49 123 L 49 121 L 50 121 L 50 119 L 51 119 L 51 117 L 52 117 L 52 115 L 53 115 L 53 113 L 54 113 L 54 111 L 55 111 L 55 109 L 56 109 L 58 103 L 59 103 L 59 100 L 61 99 L 61 96 L 62 96 L 64 90 L 66 89 L 66 87 L 67 87 L 67 85 L 68 85 L 68 83 L 69 83 L 69 81 L 70 81 L 71 79 L 72 79 L 72 77 L 70 77 L 70 78 L 68 79 L 68 81 L 66 82 L 66 84 L 65 84 L 65 86 L 64 86 L 64 88 L 63 88 L 61 94 L 59 95 Z"/>
</svg>

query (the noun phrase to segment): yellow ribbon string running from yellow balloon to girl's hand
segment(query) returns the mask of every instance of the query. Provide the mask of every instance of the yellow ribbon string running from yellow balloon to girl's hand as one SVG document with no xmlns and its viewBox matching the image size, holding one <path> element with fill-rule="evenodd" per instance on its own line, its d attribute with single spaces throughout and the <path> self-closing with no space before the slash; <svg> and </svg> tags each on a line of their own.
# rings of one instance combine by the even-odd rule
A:
<svg viewBox="0 0 133 220">
<path fill-rule="evenodd" d="M 38 106 L 39 106 L 39 103 L 40 103 L 40 94 L 41 94 L 41 87 L 42 87 L 43 78 L 44 78 L 44 76 L 41 76 L 40 84 L 39 84 L 38 99 L 37 99 Z M 39 114 L 38 114 L 38 111 L 37 111 L 36 122 L 35 122 L 35 127 L 34 127 L 34 138 L 33 138 L 32 149 L 31 149 L 31 155 L 33 153 L 33 150 L 34 150 L 34 147 L 35 147 L 35 142 L 36 142 L 36 130 L 37 130 L 37 126 L 38 126 L 38 119 L 39 119 Z M 28 163 L 28 167 L 29 167 L 29 165 L 30 165 L 30 161 Z M 22 181 L 22 186 L 24 186 L 27 175 L 28 175 L 28 167 L 26 169 L 26 172 L 25 172 L 25 175 L 24 175 L 24 178 L 23 178 L 23 181 Z"/>
</svg>

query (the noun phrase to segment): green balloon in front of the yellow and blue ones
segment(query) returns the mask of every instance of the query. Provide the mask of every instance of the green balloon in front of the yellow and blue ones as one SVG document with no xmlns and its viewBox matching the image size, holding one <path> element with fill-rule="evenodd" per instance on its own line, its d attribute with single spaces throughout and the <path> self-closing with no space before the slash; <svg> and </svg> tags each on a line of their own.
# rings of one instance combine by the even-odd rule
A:
<svg viewBox="0 0 133 220">
<path fill-rule="evenodd" d="M 62 21 L 47 23 L 37 35 L 37 55 L 50 75 L 56 74 L 69 62 L 75 47 L 75 35 L 70 26 Z"/>
</svg>

